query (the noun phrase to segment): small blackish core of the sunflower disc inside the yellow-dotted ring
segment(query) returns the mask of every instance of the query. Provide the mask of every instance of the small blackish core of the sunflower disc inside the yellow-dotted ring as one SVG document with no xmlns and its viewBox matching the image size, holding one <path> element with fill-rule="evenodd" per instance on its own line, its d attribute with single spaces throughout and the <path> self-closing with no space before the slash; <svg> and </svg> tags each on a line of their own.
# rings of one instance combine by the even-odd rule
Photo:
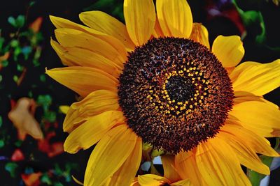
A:
<svg viewBox="0 0 280 186">
<path fill-rule="evenodd" d="M 165 88 L 170 98 L 177 102 L 187 101 L 195 92 L 195 88 L 190 79 L 181 76 L 170 77 Z"/>
</svg>

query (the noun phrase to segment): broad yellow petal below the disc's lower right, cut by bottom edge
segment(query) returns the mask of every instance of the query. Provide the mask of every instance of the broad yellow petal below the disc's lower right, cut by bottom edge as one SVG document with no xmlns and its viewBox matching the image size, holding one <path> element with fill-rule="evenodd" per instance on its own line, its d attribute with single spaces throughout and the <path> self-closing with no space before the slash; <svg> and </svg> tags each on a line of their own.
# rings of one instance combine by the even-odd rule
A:
<svg viewBox="0 0 280 186">
<path fill-rule="evenodd" d="M 232 148 L 221 139 L 197 146 L 196 162 L 207 185 L 251 185 Z"/>
</svg>

